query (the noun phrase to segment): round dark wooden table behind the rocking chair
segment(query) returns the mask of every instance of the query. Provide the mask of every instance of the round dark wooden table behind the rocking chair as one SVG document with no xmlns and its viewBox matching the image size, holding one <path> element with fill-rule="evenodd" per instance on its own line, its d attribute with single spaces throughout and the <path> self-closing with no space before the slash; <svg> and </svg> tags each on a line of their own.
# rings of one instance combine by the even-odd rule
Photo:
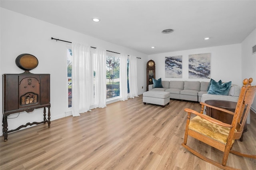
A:
<svg viewBox="0 0 256 170">
<path fill-rule="evenodd" d="M 220 107 L 222 109 L 226 109 L 228 111 L 232 111 L 235 112 L 236 110 L 236 104 L 237 102 L 233 102 L 233 101 L 223 101 L 223 100 L 206 100 L 204 103 L 208 104 L 208 105 L 212 105 L 212 106 L 216 106 L 216 107 Z M 206 107 L 206 115 L 217 119 L 219 121 L 222 121 L 223 123 L 228 123 L 231 124 L 232 120 L 233 120 L 233 115 L 230 115 L 228 113 L 210 108 L 210 107 Z M 247 126 L 246 123 L 244 125 L 244 130 L 243 133 L 247 131 Z M 240 141 L 243 140 L 243 134 L 240 138 Z"/>
</svg>

